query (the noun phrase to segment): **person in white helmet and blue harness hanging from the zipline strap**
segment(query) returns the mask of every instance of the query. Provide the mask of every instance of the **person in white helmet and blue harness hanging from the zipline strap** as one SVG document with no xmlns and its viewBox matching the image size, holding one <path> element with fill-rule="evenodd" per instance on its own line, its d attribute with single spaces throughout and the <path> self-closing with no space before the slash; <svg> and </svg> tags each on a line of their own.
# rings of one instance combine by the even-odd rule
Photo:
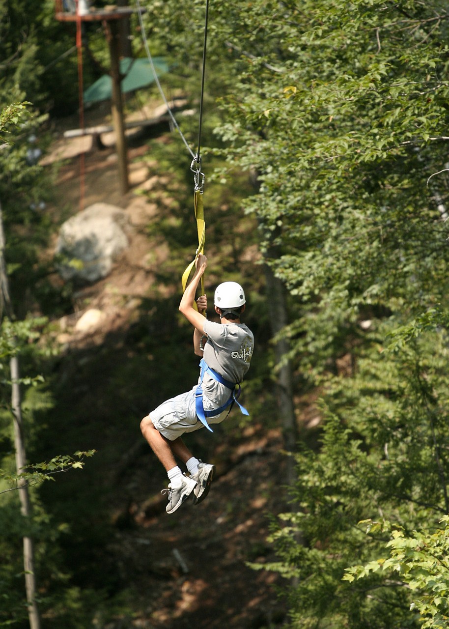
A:
<svg viewBox="0 0 449 629">
<path fill-rule="evenodd" d="M 209 493 L 214 465 L 192 456 L 181 435 L 203 426 L 212 431 L 209 423 L 218 424 L 226 418 L 233 403 L 238 404 L 239 383 L 250 368 L 253 353 L 252 331 L 240 323 L 245 310 L 245 293 L 240 284 L 223 282 L 215 291 L 214 306 L 221 323 L 209 321 L 201 314 L 208 306 L 206 295 L 197 299 L 198 311 L 194 308 L 197 286 L 207 265 L 208 259 L 200 254 L 192 281 L 179 304 L 180 312 L 195 328 L 194 352 L 202 357 L 198 383 L 191 391 L 160 404 L 140 423 L 143 437 L 169 477 L 169 488 L 164 490 L 169 494 L 167 513 L 176 511 L 191 494 L 194 504 L 198 504 Z M 248 415 L 246 409 L 238 406 Z M 186 465 L 190 476 L 182 473 L 175 457 Z"/>
</svg>

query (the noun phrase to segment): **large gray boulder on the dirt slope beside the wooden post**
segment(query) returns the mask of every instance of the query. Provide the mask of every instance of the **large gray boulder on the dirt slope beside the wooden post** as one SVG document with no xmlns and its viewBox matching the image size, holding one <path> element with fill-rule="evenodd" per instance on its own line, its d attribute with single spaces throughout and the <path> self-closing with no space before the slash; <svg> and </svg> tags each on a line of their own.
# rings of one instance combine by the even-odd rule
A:
<svg viewBox="0 0 449 629">
<path fill-rule="evenodd" d="M 108 203 L 94 203 L 65 221 L 56 245 L 62 278 L 96 282 L 106 277 L 128 246 L 127 222 L 125 212 Z"/>
</svg>

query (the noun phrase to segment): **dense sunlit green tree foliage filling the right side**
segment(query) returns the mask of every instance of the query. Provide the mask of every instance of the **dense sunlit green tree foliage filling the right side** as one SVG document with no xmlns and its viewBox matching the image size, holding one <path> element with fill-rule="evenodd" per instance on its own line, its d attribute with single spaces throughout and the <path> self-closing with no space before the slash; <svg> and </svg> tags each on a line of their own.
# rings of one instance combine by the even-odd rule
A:
<svg viewBox="0 0 449 629">
<path fill-rule="evenodd" d="M 409 608 L 430 593 L 425 579 L 404 587 L 402 557 L 396 576 L 341 577 L 387 543 L 359 520 L 413 539 L 448 512 L 446 6 L 243 4 L 232 41 L 257 58 L 241 57 L 219 133 L 230 162 L 257 172 L 247 210 L 262 247 L 281 249 L 272 266 L 297 308 L 285 335 L 324 420 L 319 450 L 296 456 L 270 567 L 293 579 L 294 627 L 419 625 Z M 433 565 L 443 595 L 420 611 L 447 626 Z"/>
</svg>

